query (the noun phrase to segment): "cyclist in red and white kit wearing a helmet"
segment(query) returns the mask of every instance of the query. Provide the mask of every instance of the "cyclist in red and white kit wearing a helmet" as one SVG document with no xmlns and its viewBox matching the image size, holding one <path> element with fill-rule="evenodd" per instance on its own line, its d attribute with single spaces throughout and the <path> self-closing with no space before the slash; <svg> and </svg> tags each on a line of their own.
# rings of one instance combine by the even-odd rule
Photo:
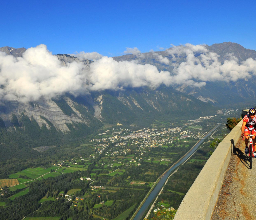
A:
<svg viewBox="0 0 256 220">
<path fill-rule="evenodd" d="M 244 142 L 245 142 L 245 154 L 248 154 L 249 153 L 249 150 L 248 150 L 248 143 L 249 143 L 249 136 L 246 136 L 246 135 L 249 135 L 250 133 L 251 134 L 254 134 L 256 135 L 256 117 L 255 117 L 255 114 L 256 114 L 256 110 L 255 108 L 250 108 L 249 111 L 248 111 L 248 114 L 244 116 L 244 119 L 243 119 L 243 124 L 242 124 L 242 134 L 241 134 L 241 137 L 244 137 L 245 136 L 245 139 L 244 139 Z M 255 143 L 256 143 L 256 139 L 255 139 L 255 136 L 252 137 L 252 141 L 253 141 L 253 147 L 255 146 Z M 255 149 L 255 148 L 254 148 Z M 254 151 L 253 153 L 253 156 L 256 158 L 256 151 Z"/>
</svg>

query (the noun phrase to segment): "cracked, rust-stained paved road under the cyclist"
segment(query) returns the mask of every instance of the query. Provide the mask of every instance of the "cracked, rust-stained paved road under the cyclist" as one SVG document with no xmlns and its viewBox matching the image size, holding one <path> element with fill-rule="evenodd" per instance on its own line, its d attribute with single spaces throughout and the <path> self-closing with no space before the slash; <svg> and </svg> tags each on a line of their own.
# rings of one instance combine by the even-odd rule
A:
<svg viewBox="0 0 256 220">
<path fill-rule="evenodd" d="M 240 139 L 233 149 L 212 220 L 256 220 L 256 159 L 252 169 Z"/>
</svg>

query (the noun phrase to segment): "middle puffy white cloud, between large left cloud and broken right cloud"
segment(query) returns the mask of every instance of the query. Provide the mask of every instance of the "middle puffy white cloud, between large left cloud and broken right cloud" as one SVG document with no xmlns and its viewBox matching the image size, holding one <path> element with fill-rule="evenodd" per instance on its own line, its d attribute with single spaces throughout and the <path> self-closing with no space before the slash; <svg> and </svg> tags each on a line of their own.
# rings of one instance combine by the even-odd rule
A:
<svg viewBox="0 0 256 220">
<path fill-rule="evenodd" d="M 167 71 L 158 71 L 155 66 L 135 62 L 117 62 L 111 57 L 102 57 L 90 66 L 91 90 L 123 89 L 125 87 L 170 85 L 171 76 Z"/>
</svg>

